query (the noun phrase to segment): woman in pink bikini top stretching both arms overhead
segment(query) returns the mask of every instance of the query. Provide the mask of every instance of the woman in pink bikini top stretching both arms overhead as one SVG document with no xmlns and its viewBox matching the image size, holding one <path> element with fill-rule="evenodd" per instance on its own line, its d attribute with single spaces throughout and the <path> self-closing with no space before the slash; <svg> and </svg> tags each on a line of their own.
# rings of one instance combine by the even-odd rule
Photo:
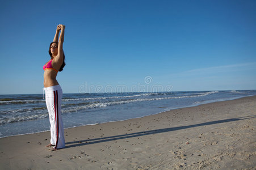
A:
<svg viewBox="0 0 256 170">
<path fill-rule="evenodd" d="M 62 90 L 56 80 L 58 71 L 62 71 L 65 66 L 65 56 L 62 49 L 64 31 L 65 25 L 57 25 L 56 34 L 49 47 L 51 59 L 43 66 L 45 101 L 51 124 L 51 143 L 47 147 L 53 146 L 51 151 L 65 147 L 64 128 L 61 118 Z M 58 39 L 59 33 L 60 39 Z"/>
</svg>

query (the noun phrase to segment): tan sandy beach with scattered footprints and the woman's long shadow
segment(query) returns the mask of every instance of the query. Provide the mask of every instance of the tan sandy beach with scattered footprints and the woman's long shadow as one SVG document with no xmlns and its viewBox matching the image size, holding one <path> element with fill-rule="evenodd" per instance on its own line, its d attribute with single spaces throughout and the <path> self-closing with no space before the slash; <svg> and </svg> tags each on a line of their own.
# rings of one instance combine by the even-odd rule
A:
<svg viewBox="0 0 256 170">
<path fill-rule="evenodd" d="M 96 115 L 95 115 L 96 116 Z M 256 96 L 142 118 L 0 138 L 0 169 L 256 169 Z"/>
</svg>

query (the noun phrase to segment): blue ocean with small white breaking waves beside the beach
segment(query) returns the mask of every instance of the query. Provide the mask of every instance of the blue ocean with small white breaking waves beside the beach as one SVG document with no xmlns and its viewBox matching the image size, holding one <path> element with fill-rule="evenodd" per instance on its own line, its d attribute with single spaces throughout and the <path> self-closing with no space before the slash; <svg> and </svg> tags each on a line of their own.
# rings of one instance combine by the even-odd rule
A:
<svg viewBox="0 0 256 170">
<path fill-rule="evenodd" d="M 256 90 L 63 94 L 64 128 L 144 117 L 256 95 Z M 50 129 L 43 94 L 0 95 L 0 138 Z"/>
</svg>

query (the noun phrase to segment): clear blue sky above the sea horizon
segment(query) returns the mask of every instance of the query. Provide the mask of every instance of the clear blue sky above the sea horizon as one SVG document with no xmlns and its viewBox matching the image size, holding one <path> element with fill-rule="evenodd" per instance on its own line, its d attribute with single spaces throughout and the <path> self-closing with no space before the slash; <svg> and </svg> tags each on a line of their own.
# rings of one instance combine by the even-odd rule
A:
<svg viewBox="0 0 256 170">
<path fill-rule="evenodd" d="M 57 24 L 64 93 L 256 89 L 256 1 L 1 0 L 0 14 L 0 94 L 42 93 Z"/>
</svg>

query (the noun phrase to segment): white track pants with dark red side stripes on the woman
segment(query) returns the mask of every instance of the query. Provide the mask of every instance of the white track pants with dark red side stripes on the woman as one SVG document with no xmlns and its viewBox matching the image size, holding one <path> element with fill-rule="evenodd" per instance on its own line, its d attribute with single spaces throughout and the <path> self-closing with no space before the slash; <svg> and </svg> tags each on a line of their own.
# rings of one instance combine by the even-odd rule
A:
<svg viewBox="0 0 256 170">
<path fill-rule="evenodd" d="M 51 144 L 53 148 L 64 148 L 64 128 L 61 117 L 62 89 L 60 85 L 45 87 L 45 101 L 51 124 Z"/>
</svg>

